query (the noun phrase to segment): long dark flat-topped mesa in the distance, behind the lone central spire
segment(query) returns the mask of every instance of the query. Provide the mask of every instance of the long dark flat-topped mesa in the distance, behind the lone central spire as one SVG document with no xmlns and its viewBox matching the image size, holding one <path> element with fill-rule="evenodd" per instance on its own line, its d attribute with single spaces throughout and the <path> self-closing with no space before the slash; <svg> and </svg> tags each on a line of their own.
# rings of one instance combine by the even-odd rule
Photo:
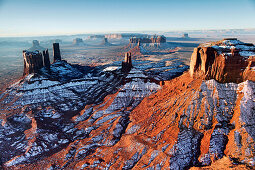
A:
<svg viewBox="0 0 255 170">
<path fill-rule="evenodd" d="M 165 43 L 166 42 L 166 37 L 161 35 L 161 36 L 153 36 L 150 38 L 137 38 L 137 37 L 132 37 L 129 39 L 130 43 Z"/>
</svg>

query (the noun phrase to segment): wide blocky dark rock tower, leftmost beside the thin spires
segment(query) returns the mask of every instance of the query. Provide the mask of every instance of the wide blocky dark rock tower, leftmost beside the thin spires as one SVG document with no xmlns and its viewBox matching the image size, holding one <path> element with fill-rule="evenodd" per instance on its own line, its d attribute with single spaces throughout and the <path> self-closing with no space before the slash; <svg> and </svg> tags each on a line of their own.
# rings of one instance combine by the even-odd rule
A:
<svg viewBox="0 0 255 170">
<path fill-rule="evenodd" d="M 39 51 L 23 51 L 24 72 L 23 75 L 38 73 L 43 67 L 42 53 Z"/>
</svg>

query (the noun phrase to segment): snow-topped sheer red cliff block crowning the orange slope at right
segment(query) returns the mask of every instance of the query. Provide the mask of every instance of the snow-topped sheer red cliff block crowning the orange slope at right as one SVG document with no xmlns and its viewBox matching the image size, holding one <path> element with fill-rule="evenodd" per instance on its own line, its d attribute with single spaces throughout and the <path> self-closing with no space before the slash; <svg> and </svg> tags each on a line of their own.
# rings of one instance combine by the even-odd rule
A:
<svg viewBox="0 0 255 170">
<path fill-rule="evenodd" d="M 236 38 L 199 45 L 191 56 L 190 75 L 201 74 L 221 83 L 255 81 L 255 46 Z"/>
</svg>

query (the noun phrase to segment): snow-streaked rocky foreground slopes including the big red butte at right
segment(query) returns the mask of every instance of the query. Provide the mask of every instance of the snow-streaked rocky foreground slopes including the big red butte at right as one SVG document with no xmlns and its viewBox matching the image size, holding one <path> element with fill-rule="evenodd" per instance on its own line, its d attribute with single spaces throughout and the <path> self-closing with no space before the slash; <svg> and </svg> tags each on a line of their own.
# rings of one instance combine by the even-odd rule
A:
<svg viewBox="0 0 255 170">
<path fill-rule="evenodd" d="M 114 69 L 60 58 L 1 94 L 1 168 L 254 169 L 254 57 L 201 44 L 168 79 L 130 53 Z"/>
</svg>

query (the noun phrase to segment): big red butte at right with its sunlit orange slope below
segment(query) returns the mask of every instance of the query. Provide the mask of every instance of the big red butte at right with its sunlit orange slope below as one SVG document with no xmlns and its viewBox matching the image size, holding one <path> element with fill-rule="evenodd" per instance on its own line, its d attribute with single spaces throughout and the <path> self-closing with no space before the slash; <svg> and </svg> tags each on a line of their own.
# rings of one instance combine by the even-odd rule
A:
<svg viewBox="0 0 255 170">
<path fill-rule="evenodd" d="M 35 163 L 17 167 L 254 169 L 254 55 L 253 45 L 236 39 L 202 44 L 194 49 L 190 71 L 166 81 L 162 89 L 130 110 L 130 123 L 116 144 L 88 150 L 82 159 L 72 156 L 92 139 L 96 141 L 107 127 L 110 133 L 116 131 L 105 122 L 81 142 L 76 140 Z M 93 107 L 104 110 L 117 94 Z M 86 106 L 81 115 L 91 107 Z M 88 124 L 82 121 L 75 127 Z"/>
</svg>

